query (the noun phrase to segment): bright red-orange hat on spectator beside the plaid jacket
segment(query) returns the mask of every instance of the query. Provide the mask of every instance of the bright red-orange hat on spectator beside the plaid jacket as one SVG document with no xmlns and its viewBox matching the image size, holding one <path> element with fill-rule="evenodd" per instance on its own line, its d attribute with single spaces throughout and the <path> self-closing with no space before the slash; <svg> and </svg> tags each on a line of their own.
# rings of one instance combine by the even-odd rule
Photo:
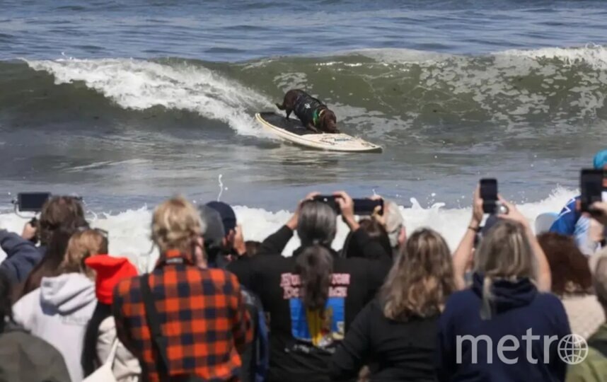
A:
<svg viewBox="0 0 607 382">
<path fill-rule="evenodd" d="M 95 255 L 84 260 L 87 267 L 95 270 L 95 294 L 100 303 L 111 305 L 114 287 L 122 279 L 137 276 L 137 268 L 127 257 Z"/>
</svg>

